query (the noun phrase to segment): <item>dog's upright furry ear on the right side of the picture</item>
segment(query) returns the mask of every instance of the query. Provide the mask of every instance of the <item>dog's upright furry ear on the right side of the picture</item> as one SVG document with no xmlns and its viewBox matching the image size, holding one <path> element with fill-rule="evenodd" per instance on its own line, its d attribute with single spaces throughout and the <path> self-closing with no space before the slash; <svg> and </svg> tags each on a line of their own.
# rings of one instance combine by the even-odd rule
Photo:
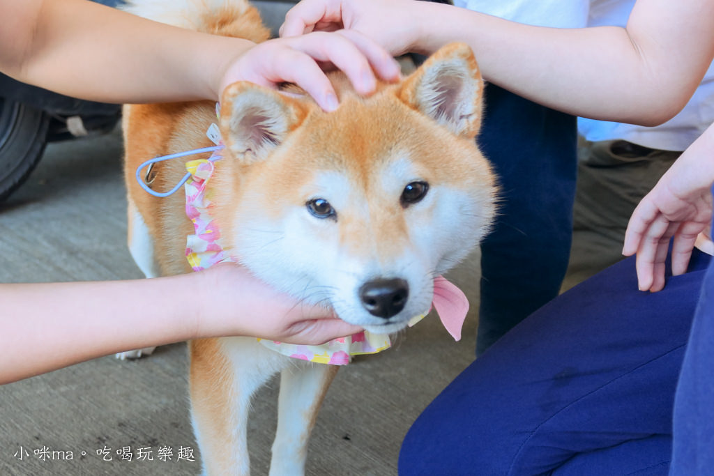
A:
<svg viewBox="0 0 714 476">
<path fill-rule="evenodd" d="M 443 46 L 402 83 L 399 98 L 458 136 L 481 128 L 483 80 L 471 48 Z"/>
</svg>

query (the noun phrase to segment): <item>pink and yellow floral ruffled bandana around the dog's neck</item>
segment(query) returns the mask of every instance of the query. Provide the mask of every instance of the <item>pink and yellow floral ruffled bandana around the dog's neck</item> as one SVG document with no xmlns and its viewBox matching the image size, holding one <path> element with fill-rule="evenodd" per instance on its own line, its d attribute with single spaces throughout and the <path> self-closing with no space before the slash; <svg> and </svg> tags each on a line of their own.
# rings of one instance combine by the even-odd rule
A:
<svg viewBox="0 0 714 476">
<path fill-rule="evenodd" d="M 193 222 L 195 233 L 186 238 L 186 259 L 194 271 L 200 271 L 222 261 L 232 261 L 231 256 L 223 252 L 221 232 L 215 220 L 208 213 L 211 205 L 211 191 L 206 191 L 206 185 L 213 175 L 213 161 L 220 158 L 219 151 L 206 159 L 189 161 L 186 170 L 191 178 L 186 181 L 186 216 Z M 455 340 L 461 339 L 461 326 L 468 312 L 468 300 L 455 285 L 438 276 L 434 280 L 433 306 L 441 321 Z M 430 309 L 431 310 L 431 309 Z M 424 313 L 413 318 L 409 325 L 418 323 Z M 373 354 L 391 346 L 391 340 L 386 334 L 375 334 L 368 331 L 353 334 L 345 338 L 331 340 L 323 345 L 296 345 L 258 338 L 266 348 L 275 350 L 288 357 L 308 360 L 310 362 L 346 365 L 352 355 Z"/>
</svg>

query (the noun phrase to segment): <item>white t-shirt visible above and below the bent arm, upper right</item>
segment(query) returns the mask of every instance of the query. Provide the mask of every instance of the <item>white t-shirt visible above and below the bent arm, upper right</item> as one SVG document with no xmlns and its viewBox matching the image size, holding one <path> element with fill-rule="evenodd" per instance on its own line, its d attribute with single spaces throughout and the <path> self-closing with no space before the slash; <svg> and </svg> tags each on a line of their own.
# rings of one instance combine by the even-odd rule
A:
<svg viewBox="0 0 714 476">
<path fill-rule="evenodd" d="M 555 28 L 625 26 L 635 0 L 454 0 L 456 6 L 519 23 Z M 714 121 L 714 64 L 683 111 L 656 127 L 578 118 L 589 141 L 622 139 L 641 146 L 683 151 Z"/>
</svg>

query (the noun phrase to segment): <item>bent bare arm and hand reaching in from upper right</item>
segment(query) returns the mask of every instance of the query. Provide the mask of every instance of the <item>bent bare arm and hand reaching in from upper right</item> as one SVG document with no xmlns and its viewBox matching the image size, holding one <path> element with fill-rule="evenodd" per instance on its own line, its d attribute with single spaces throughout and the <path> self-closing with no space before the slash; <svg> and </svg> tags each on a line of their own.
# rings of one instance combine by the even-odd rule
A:
<svg viewBox="0 0 714 476">
<path fill-rule="evenodd" d="M 527 26 L 425 1 L 303 0 L 281 35 L 337 27 L 392 54 L 463 41 L 498 86 L 576 116 L 645 126 L 678 113 L 714 58 L 714 0 L 638 0 L 626 29 Z"/>
</svg>

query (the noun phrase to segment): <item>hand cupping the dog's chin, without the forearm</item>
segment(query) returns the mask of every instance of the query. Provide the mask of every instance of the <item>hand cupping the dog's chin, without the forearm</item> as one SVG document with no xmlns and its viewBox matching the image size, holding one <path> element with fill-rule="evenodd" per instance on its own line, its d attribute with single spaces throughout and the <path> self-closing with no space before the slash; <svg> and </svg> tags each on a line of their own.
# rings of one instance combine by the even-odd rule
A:
<svg viewBox="0 0 714 476">
<path fill-rule="evenodd" d="M 196 280 L 195 338 L 242 335 L 316 345 L 362 330 L 274 290 L 240 265 L 221 263 L 188 277 Z"/>
</svg>

